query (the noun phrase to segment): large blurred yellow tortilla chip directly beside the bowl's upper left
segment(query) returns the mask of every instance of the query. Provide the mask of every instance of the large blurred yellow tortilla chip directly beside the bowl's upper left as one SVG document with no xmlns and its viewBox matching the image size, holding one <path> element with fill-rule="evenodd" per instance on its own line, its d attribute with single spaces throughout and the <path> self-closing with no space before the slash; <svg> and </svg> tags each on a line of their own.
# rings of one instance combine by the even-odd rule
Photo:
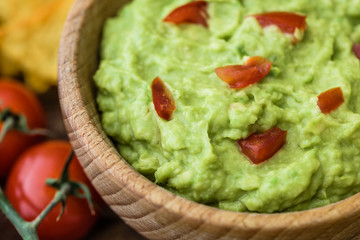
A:
<svg viewBox="0 0 360 240">
<path fill-rule="evenodd" d="M 28 0 L 1 1 L 15 1 L 21 6 L 20 2 Z M 43 92 L 57 83 L 58 45 L 74 0 L 33 1 L 42 4 L 28 17 L 16 16 L 0 27 L 0 52 L 17 65 L 34 90 Z"/>
</svg>

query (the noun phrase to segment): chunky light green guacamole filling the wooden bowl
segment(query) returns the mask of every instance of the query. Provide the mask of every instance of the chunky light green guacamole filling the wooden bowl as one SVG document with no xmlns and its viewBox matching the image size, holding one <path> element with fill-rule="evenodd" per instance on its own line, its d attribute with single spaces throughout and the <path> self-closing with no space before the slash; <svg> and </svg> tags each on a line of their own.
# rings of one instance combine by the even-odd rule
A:
<svg viewBox="0 0 360 240">
<path fill-rule="evenodd" d="M 305 210 L 360 192 L 360 1 L 210 0 L 208 27 L 163 21 L 189 2 L 135 0 L 105 24 L 97 102 L 123 158 L 182 197 L 232 211 Z M 303 38 L 251 17 L 272 11 L 305 15 Z M 246 88 L 214 71 L 252 56 L 272 67 Z M 169 121 L 154 108 L 156 77 L 176 103 Z M 318 96 L 336 87 L 345 101 L 324 114 Z M 273 127 L 286 143 L 253 164 L 238 141 Z"/>
</svg>

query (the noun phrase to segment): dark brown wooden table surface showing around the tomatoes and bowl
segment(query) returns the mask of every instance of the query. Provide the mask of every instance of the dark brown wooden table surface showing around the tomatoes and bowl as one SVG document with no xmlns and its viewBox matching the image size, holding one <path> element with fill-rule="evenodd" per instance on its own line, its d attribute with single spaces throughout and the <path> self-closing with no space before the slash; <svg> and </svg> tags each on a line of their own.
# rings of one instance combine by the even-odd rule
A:
<svg viewBox="0 0 360 240">
<path fill-rule="evenodd" d="M 47 113 L 48 128 L 57 133 L 57 138 L 67 139 L 56 88 L 53 88 L 49 92 L 41 95 L 40 99 Z M 7 221 L 2 213 L 0 213 L 0 239 L 21 240 L 20 236 L 16 233 L 16 230 Z M 92 232 L 87 237 L 85 237 L 85 239 L 145 240 L 144 237 L 127 226 L 110 209 L 105 209 L 103 211 L 99 222 L 92 230 Z"/>
</svg>

